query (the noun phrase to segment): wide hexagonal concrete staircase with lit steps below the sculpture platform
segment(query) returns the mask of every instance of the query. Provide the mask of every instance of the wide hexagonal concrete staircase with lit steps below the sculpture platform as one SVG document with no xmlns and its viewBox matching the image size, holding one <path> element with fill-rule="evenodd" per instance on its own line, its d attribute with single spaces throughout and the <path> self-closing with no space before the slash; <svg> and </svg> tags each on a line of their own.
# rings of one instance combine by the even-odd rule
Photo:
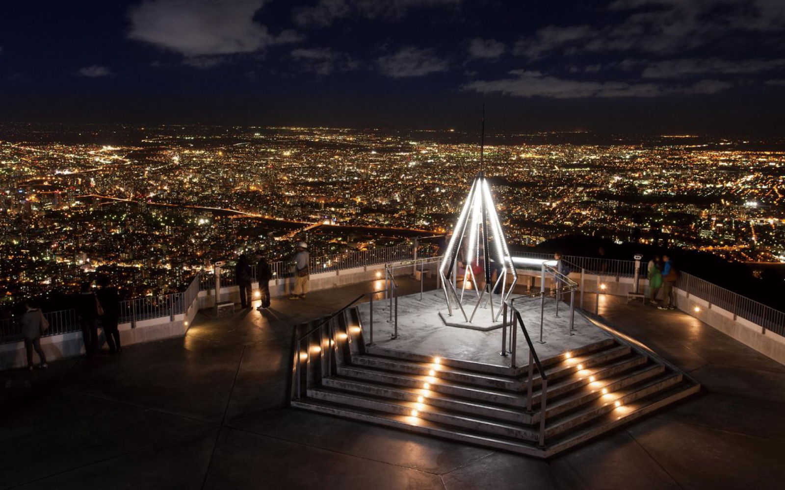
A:
<svg viewBox="0 0 785 490">
<path fill-rule="evenodd" d="M 345 310 L 298 326 L 290 403 L 546 458 L 700 388 L 618 337 L 543 359 L 545 383 L 526 357 L 506 368 L 369 347 Z"/>
</svg>

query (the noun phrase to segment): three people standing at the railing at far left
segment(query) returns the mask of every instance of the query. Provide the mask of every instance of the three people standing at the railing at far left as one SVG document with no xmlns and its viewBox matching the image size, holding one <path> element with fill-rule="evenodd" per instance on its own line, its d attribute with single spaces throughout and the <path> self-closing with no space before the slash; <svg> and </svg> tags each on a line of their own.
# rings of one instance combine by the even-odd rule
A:
<svg viewBox="0 0 785 490">
<path fill-rule="evenodd" d="M 104 337 L 109 346 L 109 354 L 119 354 L 120 332 L 118 330 L 120 317 L 120 297 L 117 289 L 109 284 L 109 278 L 98 278 L 99 289 L 93 291 L 89 282 L 82 282 L 81 291 L 76 297 L 75 308 L 82 326 L 82 342 L 88 358 L 98 354 L 98 325 L 104 330 Z M 24 347 L 27 350 L 27 369 L 33 370 L 33 350 L 38 354 L 39 368 L 46 369 L 46 354 L 41 348 L 41 336 L 49 329 L 42 310 L 35 307 L 31 301 L 24 303 L 24 314 L 20 319 Z"/>
</svg>

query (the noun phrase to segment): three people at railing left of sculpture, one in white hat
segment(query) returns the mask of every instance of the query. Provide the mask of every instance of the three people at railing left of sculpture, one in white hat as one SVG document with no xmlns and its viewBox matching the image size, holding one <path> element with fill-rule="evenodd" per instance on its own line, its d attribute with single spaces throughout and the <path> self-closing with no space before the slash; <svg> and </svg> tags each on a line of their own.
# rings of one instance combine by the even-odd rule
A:
<svg viewBox="0 0 785 490">
<path fill-rule="evenodd" d="M 259 283 L 259 296 L 261 297 L 261 304 L 257 307 L 257 310 L 261 311 L 270 307 L 269 284 L 272 279 L 272 271 L 265 255 L 261 251 L 257 255 L 256 280 Z M 309 259 L 308 244 L 305 241 L 301 241 L 292 259 L 294 264 L 294 287 L 289 299 L 305 299 L 305 294 L 309 290 Z M 252 301 L 251 282 L 254 277 L 251 273 L 250 259 L 244 253 L 239 256 L 235 265 L 235 278 L 240 290 L 240 306 L 250 308 Z"/>
</svg>

